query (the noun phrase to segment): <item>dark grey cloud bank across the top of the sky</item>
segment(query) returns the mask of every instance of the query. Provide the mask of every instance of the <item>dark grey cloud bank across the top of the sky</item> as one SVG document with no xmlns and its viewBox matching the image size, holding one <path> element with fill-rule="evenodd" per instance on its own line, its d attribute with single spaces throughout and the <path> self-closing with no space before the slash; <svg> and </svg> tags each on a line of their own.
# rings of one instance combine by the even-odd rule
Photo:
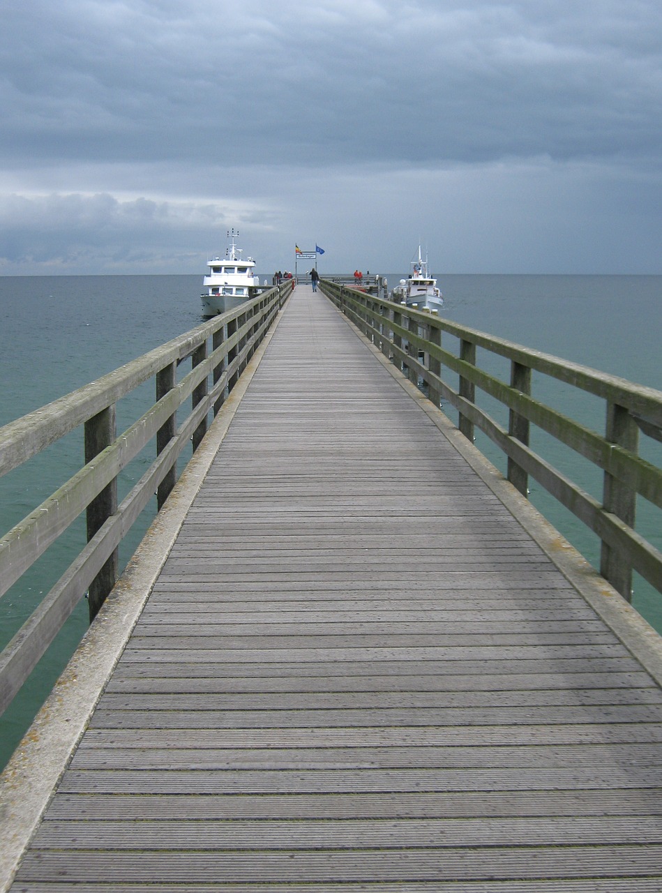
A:
<svg viewBox="0 0 662 893">
<path fill-rule="evenodd" d="M 16 5 L 10 158 L 472 161 L 646 152 L 658 4 Z"/>
</svg>

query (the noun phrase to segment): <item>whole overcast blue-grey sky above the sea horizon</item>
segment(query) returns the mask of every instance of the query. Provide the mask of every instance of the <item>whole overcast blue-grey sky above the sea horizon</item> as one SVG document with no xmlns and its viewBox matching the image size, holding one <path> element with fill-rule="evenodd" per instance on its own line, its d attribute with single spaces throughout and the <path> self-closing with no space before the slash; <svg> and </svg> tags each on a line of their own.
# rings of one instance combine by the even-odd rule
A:
<svg viewBox="0 0 662 893">
<path fill-rule="evenodd" d="M 0 274 L 662 273 L 659 0 L 2 0 Z"/>
</svg>

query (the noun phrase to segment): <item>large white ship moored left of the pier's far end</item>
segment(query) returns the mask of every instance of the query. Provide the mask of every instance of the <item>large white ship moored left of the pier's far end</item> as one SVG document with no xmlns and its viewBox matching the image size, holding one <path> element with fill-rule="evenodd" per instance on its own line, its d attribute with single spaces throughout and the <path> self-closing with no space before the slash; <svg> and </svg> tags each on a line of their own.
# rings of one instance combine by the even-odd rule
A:
<svg viewBox="0 0 662 893">
<path fill-rule="evenodd" d="M 255 275 L 256 262 L 252 257 L 241 259 L 243 251 L 237 247 L 239 232 L 228 230 L 230 245 L 225 257 L 213 257 L 207 261 L 209 272 L 202 280 L 206 292 L 202 298 L 202 315 L 205 317 L 227 313 L 257 294 L 260 284 Z"/>
</svg>

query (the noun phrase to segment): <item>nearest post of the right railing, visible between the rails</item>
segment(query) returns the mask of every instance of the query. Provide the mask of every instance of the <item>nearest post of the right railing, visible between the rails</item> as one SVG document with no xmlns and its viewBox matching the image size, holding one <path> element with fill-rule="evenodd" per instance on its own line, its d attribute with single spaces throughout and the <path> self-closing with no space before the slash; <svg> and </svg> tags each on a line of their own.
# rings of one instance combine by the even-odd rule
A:
<svg viewBox="0 0 662 893">
<path fill-rule="evenodd" d="M 624 406 L 608 402 L 606 438 L 619 447 L 637 453 L 639 427 Z M 603 489 L 605 511 L 615 514 L 628 527 L 633 528 L 636 505 L 636 490 L 605 472 Z M 632 600 L 632 565 L 625 562 L 623 556 L 605 542 L 602 542 L 600 547 L 600 573 L 627 601 Z"/>
</svg>

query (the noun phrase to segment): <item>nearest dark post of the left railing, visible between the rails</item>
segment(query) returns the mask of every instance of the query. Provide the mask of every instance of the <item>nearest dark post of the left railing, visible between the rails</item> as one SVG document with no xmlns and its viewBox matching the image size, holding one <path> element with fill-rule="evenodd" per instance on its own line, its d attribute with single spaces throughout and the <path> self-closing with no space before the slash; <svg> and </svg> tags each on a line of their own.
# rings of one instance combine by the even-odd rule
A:
<svg viewBox="0 0 662 893">
<path fill-rule="evenodd" d="M 116 438 L 115 405 L 107 406 L 85 422 L 85 462 L 109 447 Z M 113 480 L 88 505 L 88 542 L 100 530 L 108 518 L 117 512 L 117 478 Z M 111 591 L 119 574 L 119 550 L 114 549 L 101 570 L 90 583 L 88 590 L 89 620 L 92 622 L 105 597 Z"/>
</svg>

